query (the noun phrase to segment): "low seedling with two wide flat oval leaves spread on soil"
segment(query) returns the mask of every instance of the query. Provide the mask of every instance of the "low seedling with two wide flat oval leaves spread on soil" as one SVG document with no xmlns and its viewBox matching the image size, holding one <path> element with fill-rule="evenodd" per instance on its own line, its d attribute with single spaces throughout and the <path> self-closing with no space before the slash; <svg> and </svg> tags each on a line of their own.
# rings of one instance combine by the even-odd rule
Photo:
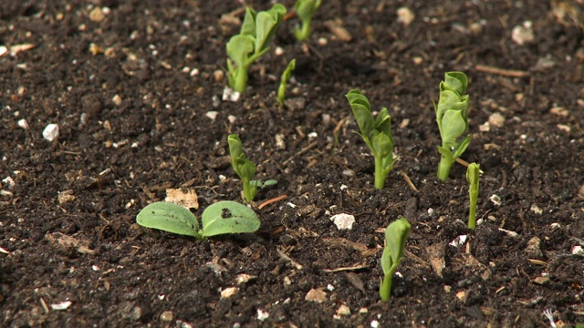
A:
<svg viewBox="0 0 584 328">
<path fill-rule="evenodd" d="M 170 202 L 151 203 L 143 208 L 136 221 L 142 227 L 168 231 L 204 239 L 225 233 L 254 232 L 259 229 L 259 219 L 254 210 L 230 200 L 214 203 L 201 217 L 202 227 L 190 210 Z"/>
</svg>

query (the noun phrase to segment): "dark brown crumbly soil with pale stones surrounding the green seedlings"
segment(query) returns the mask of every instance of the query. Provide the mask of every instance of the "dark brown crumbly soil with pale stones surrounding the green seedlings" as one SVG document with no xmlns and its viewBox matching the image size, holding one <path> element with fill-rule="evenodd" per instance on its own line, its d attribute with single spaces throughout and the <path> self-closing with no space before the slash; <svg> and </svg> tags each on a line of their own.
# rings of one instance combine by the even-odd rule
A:
<svg viewBox="0 0 584 328">
<path fill-rule="evenodd" d="M 282 24 L 234 102 L 223 100 L 225 44 L 241 9 L 0 3 L 0 325 L 584 323 L 581 2 L 324 1 L 306 42 L 297 18 Z M 484 171 L 474 231 L 464 165 L 436 178 L 433 101 L 453 70 L 469 77 L 462 159 Z M 354 133 L 352 88 L 392 117 L 399 160 L 383 190 Z M 253 204 L 259 231 L 197 241 L 136 223 L 171 189 L 196 195 L 199 218 L 217 200 L 243 202 L 232 133 L 256 177 L 278 181 Z M 342 213 L 351 230 L 330 220 Z M 383 230 L 401 216 L 412 231 L 381 302 Z"/>
</svg>

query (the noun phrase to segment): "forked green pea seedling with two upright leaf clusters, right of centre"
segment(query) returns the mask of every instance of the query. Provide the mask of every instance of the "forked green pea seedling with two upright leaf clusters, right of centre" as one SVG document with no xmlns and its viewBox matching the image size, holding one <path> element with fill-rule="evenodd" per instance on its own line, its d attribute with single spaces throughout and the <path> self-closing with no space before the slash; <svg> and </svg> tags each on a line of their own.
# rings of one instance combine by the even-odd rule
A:
<svg viewBox="0 0 584 328">
<path fill-rule="evenodd" d="M 369 100 L 357 89 L 350 90 L 346 97 L 359 125 L 360 136 L 375 158 L 375 188 L 382 190 L 396 159 L 393 157 L 391 116 L 387 108 L 382 108 L 373 120 Z"/>
</svg>

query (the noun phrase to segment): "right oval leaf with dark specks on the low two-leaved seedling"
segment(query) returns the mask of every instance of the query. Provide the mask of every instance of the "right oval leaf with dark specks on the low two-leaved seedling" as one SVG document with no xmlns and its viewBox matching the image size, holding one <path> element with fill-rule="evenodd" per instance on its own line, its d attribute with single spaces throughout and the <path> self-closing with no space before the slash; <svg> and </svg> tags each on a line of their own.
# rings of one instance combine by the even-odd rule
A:
<svg viewBox="0 0 584 328">
<path fill-rule="evenodd" d="M 223 200 L 203 211 L 203 237 L 224 233 L 254 232 L 260 221 L 254 210 L 235 201 Z"/>
</svg>

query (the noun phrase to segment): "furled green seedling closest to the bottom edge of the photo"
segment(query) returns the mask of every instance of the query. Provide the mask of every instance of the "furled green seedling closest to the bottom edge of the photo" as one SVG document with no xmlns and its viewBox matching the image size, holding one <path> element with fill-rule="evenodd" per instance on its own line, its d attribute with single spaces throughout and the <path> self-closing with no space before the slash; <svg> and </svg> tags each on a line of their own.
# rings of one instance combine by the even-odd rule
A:
<svg viewBox="0 0 584 328">
<path fill-rule="evenodd" d="M 380 287 L 381 301 L 387 302 L 391 296 L 391 279 L 393 273 L 400 265 L 405 250 L 405 243 L 410 236 L 412 225 L 401 217 L 394 220 L 385 229 L 385 249 L 381 255 L 381 269 L 383 269 L 383 281 Z"/>
</svg>

